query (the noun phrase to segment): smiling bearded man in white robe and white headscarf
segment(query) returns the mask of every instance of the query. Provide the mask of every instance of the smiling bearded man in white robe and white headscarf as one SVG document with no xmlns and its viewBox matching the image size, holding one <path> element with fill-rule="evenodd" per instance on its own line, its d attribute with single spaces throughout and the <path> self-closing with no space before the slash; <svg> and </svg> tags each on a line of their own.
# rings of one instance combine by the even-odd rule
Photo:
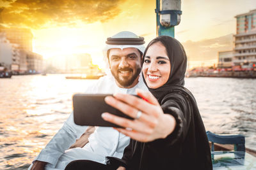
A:
<svg viewBox="0 0 256 170">
<path fill-rule="evenodd" d="M 106 41 L 104 56 L 111 73 L 100 78 L 87 93 L 111 94 L 115 92 L 136 94 L 135 89 L 147 90 L 140 76 L 141 56 L 145 50 L 144 38 L 132 32 L 119 32 Z M 64 169 L 72 160 L 88 159 L 105 163 L 106 156 L 121 158 L 129 138 L 112 127 L 96 127 L 83 148 L 70 146 L 86 131 L 87 126 L 74 124 L 74 115 L 40 152 L 29 167 L 34 169 Z"/>
</svg>

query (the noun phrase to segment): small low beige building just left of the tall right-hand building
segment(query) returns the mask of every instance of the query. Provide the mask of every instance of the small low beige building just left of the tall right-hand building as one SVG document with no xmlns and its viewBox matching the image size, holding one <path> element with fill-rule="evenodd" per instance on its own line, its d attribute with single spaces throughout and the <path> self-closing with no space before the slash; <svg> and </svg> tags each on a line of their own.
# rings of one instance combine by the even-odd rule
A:
<svg viewBox="0 0 256 170">
<path fill-rule="evenodd" d="M 232 67 L 233 57 L 234 57 L 234 51 L 219 52 L 218 67 L 219 68 Z"/>
</svg>

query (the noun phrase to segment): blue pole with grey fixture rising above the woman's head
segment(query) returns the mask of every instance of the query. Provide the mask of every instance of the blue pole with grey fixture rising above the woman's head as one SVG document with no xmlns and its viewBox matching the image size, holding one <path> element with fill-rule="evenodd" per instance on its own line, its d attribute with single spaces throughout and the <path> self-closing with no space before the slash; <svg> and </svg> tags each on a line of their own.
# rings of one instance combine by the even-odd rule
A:
<svg viewBox="0 0 256 170">
<path fill-rule="evenodd" d="M 156 0 L 157 36 L 174 38 L 174 27 L 179 25 L 182 14 L 180 3 L 180 0 Z"/>
</svg>

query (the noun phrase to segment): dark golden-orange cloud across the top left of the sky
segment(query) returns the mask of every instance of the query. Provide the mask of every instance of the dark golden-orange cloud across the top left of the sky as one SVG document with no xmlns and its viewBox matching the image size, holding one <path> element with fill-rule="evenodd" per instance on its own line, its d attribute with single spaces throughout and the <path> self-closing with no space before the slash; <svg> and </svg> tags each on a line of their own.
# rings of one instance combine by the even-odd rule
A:
<svg viewBox="0 0 256 170">
<path fill-rule="evenodd" d="M 2 0 L 2 24 L 41 29 L 106 22 L 120 13 L 121 0 Z M 0 10 L 1 11 L 1 10 Z M 0 18 L 0 21 L 1 21 Z M 1 23 L 0 23 L 1 24 Z"/>
</svg>

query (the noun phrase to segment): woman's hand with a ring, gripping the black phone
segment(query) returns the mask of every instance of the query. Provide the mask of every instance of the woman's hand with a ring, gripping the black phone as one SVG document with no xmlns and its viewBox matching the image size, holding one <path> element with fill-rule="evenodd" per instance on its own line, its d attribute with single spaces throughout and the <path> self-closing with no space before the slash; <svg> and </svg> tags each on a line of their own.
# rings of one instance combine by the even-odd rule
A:
<svg viewBox="0 0 256 170">
<path fill-rule="evenodd" d="M 116 130 L 137 141 L 148 142 L 166 138 L 175 128 L 175 118 L 163 113 L 157 99 L 150 92 L 140 89 L 136 89 L 136 92 L 142 99 L 129 94 L 115 94 L 114 97 L 106 97 L 105 101 L 132 118 L 136 118 L 138 111 L 141 111 L 140 118 L 129 120 L 110 113 L 103 113 L 102 118 L 125 127 L 125 129 L 116 128 Z"/>
</svg>

